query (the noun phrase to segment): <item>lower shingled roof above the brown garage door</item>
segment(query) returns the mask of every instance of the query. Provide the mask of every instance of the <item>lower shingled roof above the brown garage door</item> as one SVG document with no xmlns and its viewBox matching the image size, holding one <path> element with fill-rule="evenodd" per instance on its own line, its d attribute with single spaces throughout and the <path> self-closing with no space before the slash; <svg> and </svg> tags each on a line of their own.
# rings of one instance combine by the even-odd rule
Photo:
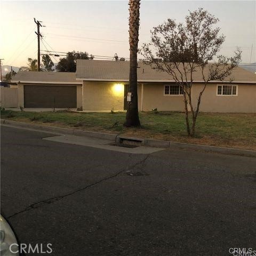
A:
<svg viewBox="0 0 256 256">
<path fill-rule="evenodd" d="M 81 84 L 81 82 L 76 81 L 76 73 L 38 71 L 19 71 L 13 77 L 12 82 L 43 84 Z"/>
</svg>

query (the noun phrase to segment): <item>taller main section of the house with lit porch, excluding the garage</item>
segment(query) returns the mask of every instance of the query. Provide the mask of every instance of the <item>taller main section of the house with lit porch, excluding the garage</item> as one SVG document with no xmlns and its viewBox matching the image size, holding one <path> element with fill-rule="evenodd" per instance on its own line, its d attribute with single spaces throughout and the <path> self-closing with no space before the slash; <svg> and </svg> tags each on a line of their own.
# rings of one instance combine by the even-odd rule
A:
<svg viewBox="0 0 256 256">
<path fill-rule="evenodd" d="M 128 61 L 77 60 L 76 79 L 83 82 L 84 110 L 124 110 L 129 84 Z M 183 111 L 183 94 L 167 73 L 138 63 L 138 107 L 140 111 Z M 200 72 L 195 72 L 191 91 L 197 102 L 203 87 Z M 232 83 L 230 83 L 232 79 Z M 204 112 L 256 112 L 256 75 L 237 67 L 225 82 L 206 86 L 200 110 Z"/>
</svg>

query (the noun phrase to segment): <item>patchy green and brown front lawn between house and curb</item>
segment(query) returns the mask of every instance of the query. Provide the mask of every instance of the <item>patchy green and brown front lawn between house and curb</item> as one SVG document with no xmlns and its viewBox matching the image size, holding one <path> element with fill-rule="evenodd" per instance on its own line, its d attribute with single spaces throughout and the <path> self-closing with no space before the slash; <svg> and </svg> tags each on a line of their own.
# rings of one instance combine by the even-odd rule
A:
<svg viewBox="0 0 256 256">
<path fill-rule="evenodd" d="M 75 113 L 69 111 L 1 111 L 1 118 L 13 121 L 70 127 L 79 130 L 124 134 L 202 145 L 256 150 L 256 114 L 200 113 L 196 137 L 186 134 L 184 113 L 140 113 L 141 129 L 123 126 L 125 113 Z"/>
</svg>

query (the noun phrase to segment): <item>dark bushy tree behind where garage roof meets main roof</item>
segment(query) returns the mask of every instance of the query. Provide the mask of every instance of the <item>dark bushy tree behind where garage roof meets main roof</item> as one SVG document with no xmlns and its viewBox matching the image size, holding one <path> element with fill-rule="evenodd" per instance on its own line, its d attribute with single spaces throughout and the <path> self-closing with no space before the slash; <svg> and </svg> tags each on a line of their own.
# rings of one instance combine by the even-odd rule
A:
<svg viewBox="0 0 256 256">
<path fill-rule="evenodd" d="M 56 70 L 59 72 L 75 72 L 76 71 L 76 60 L 93 59 L 93 56 L 89 57 L 87 52 L 68 52 L 66 58 L 61 58 L 56 66 Z"/>
</svg>

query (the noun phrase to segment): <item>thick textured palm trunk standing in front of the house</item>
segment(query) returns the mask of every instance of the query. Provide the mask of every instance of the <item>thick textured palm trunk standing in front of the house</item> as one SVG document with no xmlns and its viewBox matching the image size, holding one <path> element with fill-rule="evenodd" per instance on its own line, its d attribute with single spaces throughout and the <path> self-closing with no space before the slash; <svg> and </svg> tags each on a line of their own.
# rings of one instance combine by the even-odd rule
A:
<svg viewBox="0 0 256 256">
<path fill-rule="evenodd" d="M 131 102 L 128 103 L 126 121 L 124 126 L 140 126 L 138 113 L 138 93 L 137 93 L 137 53 L 139 42 L 139 20 L 140 20 L 140 0 L 130 0 L 129 19 L 129 43 L 130 43 L 130 76 L 129 91 L 132 93 Z"/>
</svg>

